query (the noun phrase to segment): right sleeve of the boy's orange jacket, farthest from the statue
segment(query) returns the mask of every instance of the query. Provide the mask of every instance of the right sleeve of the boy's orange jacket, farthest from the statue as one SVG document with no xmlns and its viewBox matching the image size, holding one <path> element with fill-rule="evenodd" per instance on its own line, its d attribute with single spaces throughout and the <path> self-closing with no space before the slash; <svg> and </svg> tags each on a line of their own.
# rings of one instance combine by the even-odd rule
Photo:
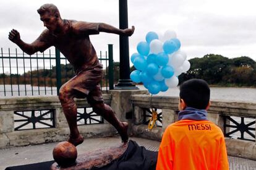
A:
<svg viewBox="0 0 256 170">
<path fill-rule="evenodd" d="M 220 155 L 219 155 L 219 161 L 218 161 L 218 169 L 220 170 L 228 170 L 229 164 L 228 164 L 228 154 L 226 150 L 226 144 L 224 140 L 224 136 L 221 138 L 221 146 L 220 146 Z"/>
</svg>

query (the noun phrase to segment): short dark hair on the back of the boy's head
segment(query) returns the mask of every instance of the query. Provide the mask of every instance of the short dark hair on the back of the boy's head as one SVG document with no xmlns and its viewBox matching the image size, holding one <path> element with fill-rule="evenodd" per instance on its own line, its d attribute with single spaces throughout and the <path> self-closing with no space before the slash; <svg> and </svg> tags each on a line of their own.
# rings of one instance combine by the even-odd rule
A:
<svg viewBox="0 0 256 170">
<path fill-rule="evenodd" d="M 179 87 L 179 97 L 185 101 L 188 107 L 206 109 L 210 101 L 210 88 L 202 79 L 190 79 Z"/>
</svg>

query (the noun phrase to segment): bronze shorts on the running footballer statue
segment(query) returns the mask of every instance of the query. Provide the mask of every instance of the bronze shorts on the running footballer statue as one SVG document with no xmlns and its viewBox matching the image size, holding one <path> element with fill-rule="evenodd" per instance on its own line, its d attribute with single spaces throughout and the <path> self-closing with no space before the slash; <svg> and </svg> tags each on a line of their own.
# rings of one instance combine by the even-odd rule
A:
<svg viewBox="0 0 256 170">
<path fill-rule="evenodd" d="M 62 85 L 62 93 L 68 92 L 70 97 L 85 98 L 88 103 L 103 102 L 100 90 L 103 69 L 101 66 L 89 70 L 80 70 L 75 77 Z"/>
</svg>

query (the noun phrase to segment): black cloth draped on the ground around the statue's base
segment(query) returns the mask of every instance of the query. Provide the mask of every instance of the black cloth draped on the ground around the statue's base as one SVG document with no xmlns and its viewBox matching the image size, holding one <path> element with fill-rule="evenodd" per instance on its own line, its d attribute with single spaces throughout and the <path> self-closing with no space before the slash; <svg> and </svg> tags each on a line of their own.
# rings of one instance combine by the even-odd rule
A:
<svg viewBox="0 0 256 170">
<path fill-rule="evenodd" d="M 146 150 L 133 140 L 130 140 L 127 150 L 120 158 L 102 168 L 92 168 L 92 170 L 155 170 L 157 155 L 157 151 Z M 12 166 L 6 168 L 6 170 L 45 170 L 49 169 L 53 163 L 54 161 L 48 161 L 22 166 Z"/>
</svg>

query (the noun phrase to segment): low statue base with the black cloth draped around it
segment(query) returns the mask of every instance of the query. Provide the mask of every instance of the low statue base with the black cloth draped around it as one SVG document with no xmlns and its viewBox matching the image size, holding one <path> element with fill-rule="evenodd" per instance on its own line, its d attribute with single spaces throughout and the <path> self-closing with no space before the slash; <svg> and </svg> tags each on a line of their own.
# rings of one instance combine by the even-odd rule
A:
<svg viewBox="0 0 256 170">
<path fill-rule="evenodd" d="M 127 146 L 128 145 L 128 146 Z M 59 167 L 54 161 L 42 163 L 25 164 L 20 166 L 12 166 L 6 170 L 35 170 L 35 169 L 94 169 L 94 170 L 155 170 L 157 161 L 157 151 L 150 151 L 144 147 L 140 147 L 133 140 L 124 146 L 106 148 L 79 155 L 74 166 L 68 168 Z M 102 156 L 105 155 L 105 156 Z M 106 162 L 105 162 L 106 161 Z"/>
</svg>

